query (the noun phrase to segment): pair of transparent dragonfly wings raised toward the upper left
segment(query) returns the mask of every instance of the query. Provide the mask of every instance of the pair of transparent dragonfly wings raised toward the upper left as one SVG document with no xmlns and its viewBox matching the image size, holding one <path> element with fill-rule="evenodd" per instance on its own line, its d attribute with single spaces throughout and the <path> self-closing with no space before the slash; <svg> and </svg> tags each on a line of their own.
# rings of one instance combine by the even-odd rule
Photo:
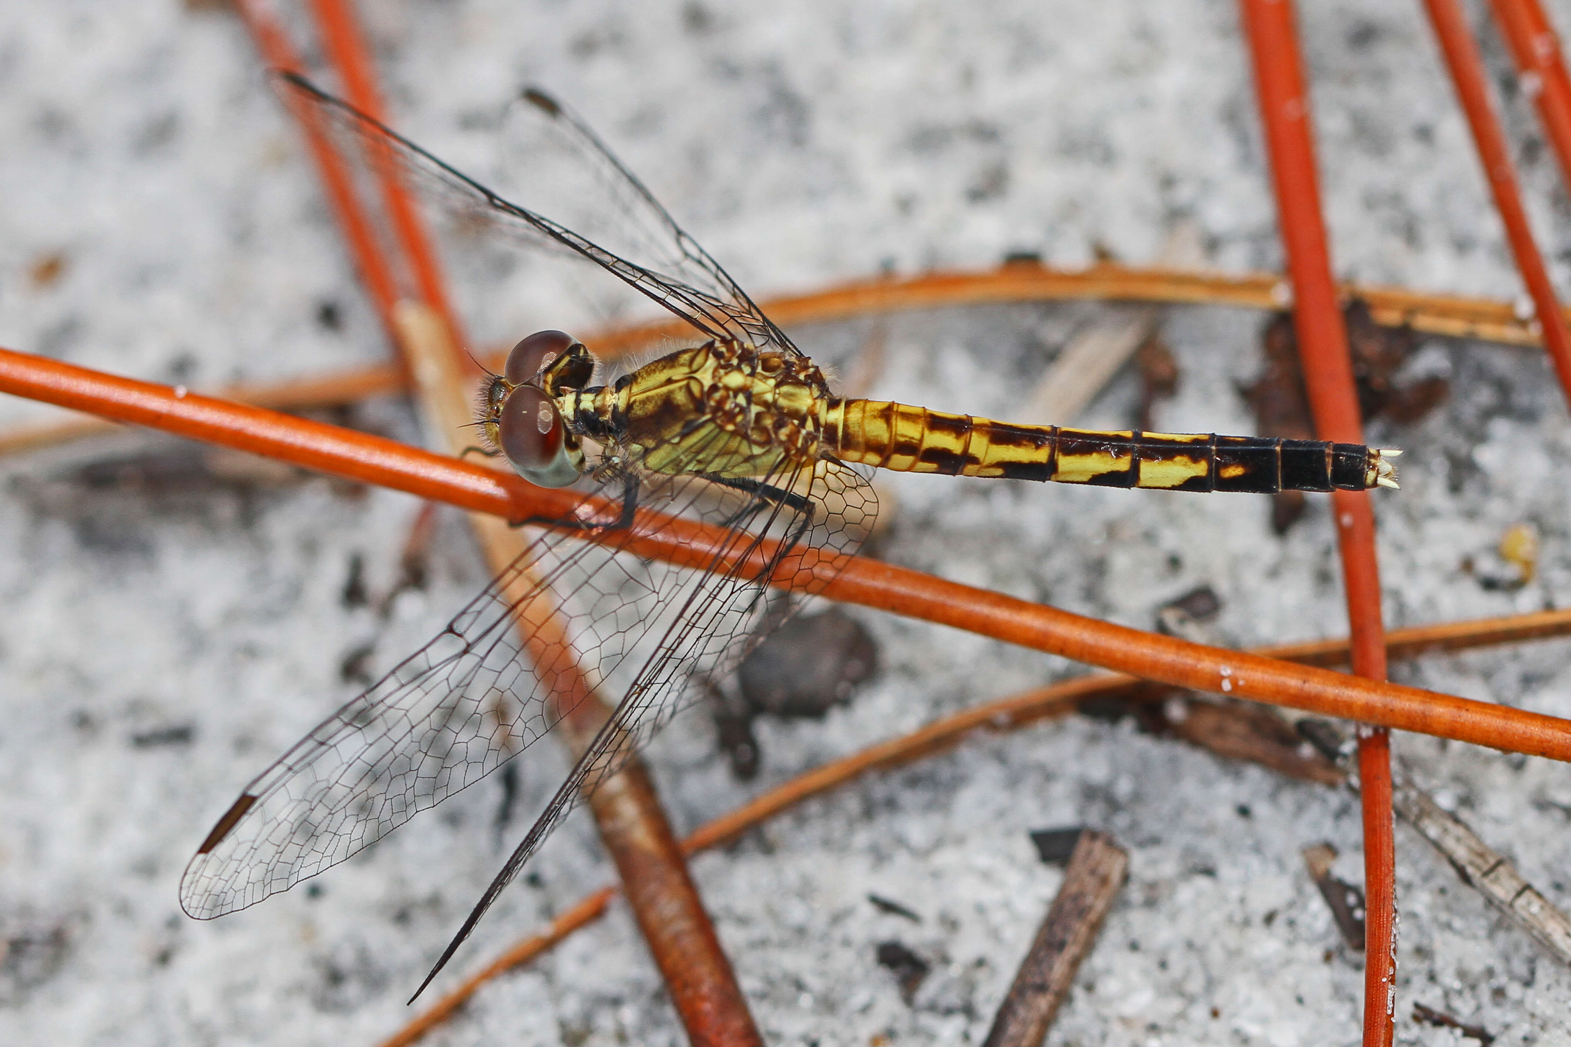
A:
<svg viewBox="0 0 1571 1047">
<path fill-rule="evenodd" d="M 291 72 L 280 91 L 322 115 L 330 133 L 372 162 L 393 163 L 468 231 L 595 262 L 710 337 L 800 355 L 709 251 L 682 231 L 575 113 L 534 88 L 509 107 L 509 135 L 526 170 L 522 202 L 503 199 L 382 122 Z"/>
</svg>

